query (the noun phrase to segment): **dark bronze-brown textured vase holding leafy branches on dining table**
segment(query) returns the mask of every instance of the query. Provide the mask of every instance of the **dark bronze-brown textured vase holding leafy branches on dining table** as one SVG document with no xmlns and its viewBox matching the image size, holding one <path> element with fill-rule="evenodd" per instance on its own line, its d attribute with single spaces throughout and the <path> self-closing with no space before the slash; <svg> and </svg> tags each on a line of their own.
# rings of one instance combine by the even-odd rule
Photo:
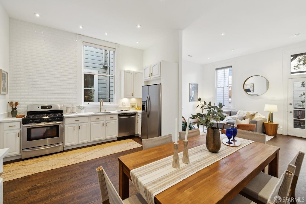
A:
<svg viewBox="0 0 306 204">
<path fill-rule="evenodd" d="M 221 139 L 219 128 L 212 127 L 207 128 L 206 134 L 206 148 L 208 151 L 216 153 L 221 148 Z"/>
</svg>

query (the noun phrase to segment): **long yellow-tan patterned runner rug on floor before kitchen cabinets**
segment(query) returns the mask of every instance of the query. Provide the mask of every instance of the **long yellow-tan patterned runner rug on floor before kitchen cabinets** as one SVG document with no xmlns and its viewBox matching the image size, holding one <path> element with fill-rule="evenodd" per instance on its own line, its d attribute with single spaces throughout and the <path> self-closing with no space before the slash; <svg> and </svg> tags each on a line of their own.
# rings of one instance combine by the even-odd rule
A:
<svg viewBox="0 0 306 204">
<path fill-rule="evenodd" d="M 135 142 L 134 140 L 127 139 L 102 145 L 85 147 L 68 152 L 47 155 L 44 157 L 18 161 L 3 165 L 2 178 L 3 181 L 9 181 L 12 179 L 21 178 L 23 176 L 80 163 L 82 161 L 96 159 L 141 146 L 142 145 Z"/>
</svg>

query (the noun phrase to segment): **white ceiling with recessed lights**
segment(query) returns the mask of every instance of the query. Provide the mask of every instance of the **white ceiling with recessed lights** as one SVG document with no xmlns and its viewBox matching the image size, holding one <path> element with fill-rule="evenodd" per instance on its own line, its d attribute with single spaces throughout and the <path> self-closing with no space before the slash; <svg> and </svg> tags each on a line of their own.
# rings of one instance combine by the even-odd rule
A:
<svg viewBox="0 0 306 204">
<path fill-rule="evenodd" d="M 12 18 L 139 49 L 182 29 L 183 60 L 199 64 L 306 40 L 305 0 L 0 0 L 0 3 Z M 294 36 L 297 33 L 300 35 Z"/>
</svg>

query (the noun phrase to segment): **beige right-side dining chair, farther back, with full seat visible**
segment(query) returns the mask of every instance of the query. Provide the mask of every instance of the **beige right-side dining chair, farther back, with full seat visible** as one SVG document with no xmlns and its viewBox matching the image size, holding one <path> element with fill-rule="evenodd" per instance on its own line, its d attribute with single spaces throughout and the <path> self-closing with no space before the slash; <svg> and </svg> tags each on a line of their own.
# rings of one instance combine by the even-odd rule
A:
<svg viewBox="0 0 306 204">
<path fill-rule="evenodd" d="M 288 195 L 281 197 L 290 197 L 295 198 L 295 189 L 297 185 L 297 179 L 300 174 L 300 169 L 304 159 L 304 152 L 299 152 L 297 155 L 289 162 L 287 170 L 293 172 L 293 181 L 290 184 L 290 188 L 288 191 Z M 295 169 L 293 171 L 292 169 Z M 260 172 L 242 191 L 241 195 L 252 199 L 253 201 L 257 200 L 260 202 L 267 203 L 269 199 L 269 195 L 273 191 L 274 186 L 279 183 L 278 178 L 274 176 L 270 176 L 263 172 Z M 276 194 L 277 195 L 277 194 Z M 273 198 L 273 197 L 272 197 Z M 293 199 L 295 200 L 295 199 Z M 256 201 L 255 201 L 256 202 Z"/>
</svg>

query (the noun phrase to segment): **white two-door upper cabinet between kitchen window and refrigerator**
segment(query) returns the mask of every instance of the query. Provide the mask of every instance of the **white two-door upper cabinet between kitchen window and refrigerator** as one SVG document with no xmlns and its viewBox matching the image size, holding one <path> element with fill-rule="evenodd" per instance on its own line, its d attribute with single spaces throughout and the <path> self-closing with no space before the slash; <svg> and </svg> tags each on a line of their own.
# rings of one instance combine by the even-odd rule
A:
<svg viewBox="0 0 306 204">
<path fill-rule="evenodd" d="M 121 71 L 121 98 L 141 98 L 142 71 Z"/>
</svg>

